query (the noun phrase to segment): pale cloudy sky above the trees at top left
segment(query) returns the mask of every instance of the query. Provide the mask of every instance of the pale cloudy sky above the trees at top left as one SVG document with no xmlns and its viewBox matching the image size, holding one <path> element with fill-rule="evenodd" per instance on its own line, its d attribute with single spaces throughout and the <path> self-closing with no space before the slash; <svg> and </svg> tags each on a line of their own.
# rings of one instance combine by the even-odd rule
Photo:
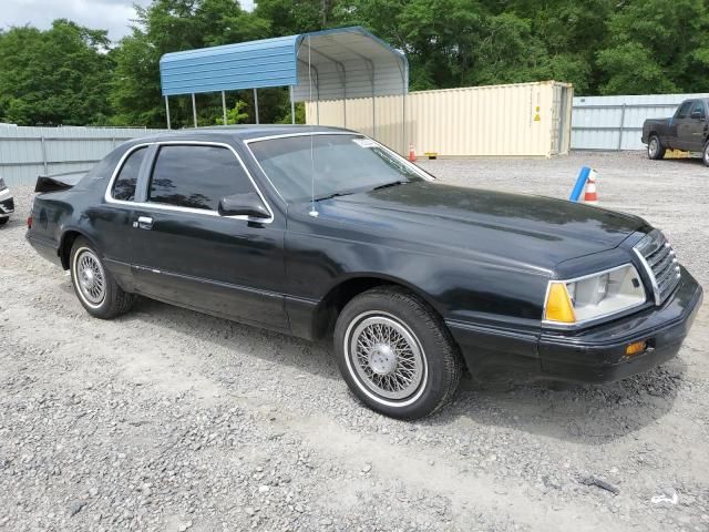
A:
<svg viewBox="0 0 709 532">
<path fill-rule="evenodd" d="M 133 4 L 147 6 L 151 0 L 0 0 L 0 27 L 30 24 L 48 29 L 54 19 L 73 20 L 80 25 L 109 30 L 109 38 L 117 41 L 130 33 Z M 253 9 L 253 0 L 239 1 L 244 9 Z"/>
</svg>

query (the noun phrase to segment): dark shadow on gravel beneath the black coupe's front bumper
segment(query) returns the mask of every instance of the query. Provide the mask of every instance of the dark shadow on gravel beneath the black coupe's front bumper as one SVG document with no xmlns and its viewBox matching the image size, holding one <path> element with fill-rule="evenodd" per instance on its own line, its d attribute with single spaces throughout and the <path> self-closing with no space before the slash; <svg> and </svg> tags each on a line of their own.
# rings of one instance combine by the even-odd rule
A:
<svg viewBox="0 0 709 532">
<path fill-rule="evenodd" d="M 680 354 L 681 356 L 681 354 Z M 467 420 L 585 444 L 605 444 L 667 415 L 685 386 L 681 358 L 607 385 L 480 385 L 467 379 L 432 424 Z"/>
</svg>

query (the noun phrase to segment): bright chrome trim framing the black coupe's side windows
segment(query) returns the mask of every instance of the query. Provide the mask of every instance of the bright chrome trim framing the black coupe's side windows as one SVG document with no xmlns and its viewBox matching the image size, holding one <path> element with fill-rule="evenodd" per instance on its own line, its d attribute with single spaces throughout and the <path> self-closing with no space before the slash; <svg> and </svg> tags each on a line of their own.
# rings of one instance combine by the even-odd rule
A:
<svg viewBox="0 0 709 532">
<path fill-rule="evenodd" d="M 234 156 L 238 161 L 239 165 L 242 166 L 242 170 L 244 170 L 244 172 L 246 173 L 247 177 L 251 182 L 251 185 L 254 185 L 256 194 L 258 194 L 258 197 L 260 197 L 261 202 L 264 202 L 264 205 L 266 206 L 266 211 L 268 211 L 268 214 L 270 216 L 268 218 L 257 218 L 257 217 L 254 217 L 254 216 L 246 216 L 246 215 L 242 215 L 242 214 L 234 215 L 234 216 L 222 216 L 217 211 L 205 209 L 205 208 L 179 207 L 177 205 L 168 205 L 168 204 L 164 204 L 164 203 L 154 203 L 154 202 L 150 202 L 150 201 L 145 201 L 145 202 L 126 202 L 124 200 L 115 200 L 113 197 L 113 195 L 112 195 L 113 184 L 114 184 L 116 177 L 119 176 L 119 173 L 121 172 L 121 168 L 123 168 L 123 165 L 125 164 L 125 161 L 127 160 L 127 157 L 131 156 L 131 154 L 133 152 L 135 152 L 136 150 L 138 150 L 141 147 L 150 147 L 150 146 L 154 146 L 154 145 L 156 145 L 157 147 L 164 146 L 164 145 L 167 145 L 167 146 L 169 146 L 169 145 L 183 145 L 183 146 L 226 147 L 227 150 L 229 150 L 234 154 Z M 160 154 L 156 154 L 156 157 L 157 156 L 160 156 Z M 151 173 L 152 173 L 152 170 L 151 170 Z M 148 181 L 147 184 L 150 184 L 150 181 Z M 147 190 L 146 190 L 146 192 L 147 192 Z M 144 143 L 141 143 L 141 144 L 136 144 L 136 145 L 132 146 L 130 150 L 127 150 L 121 156 L 121 160 L 115 165 L 115 168 L 113 168 L 113 174 L 111 174 L 111 178 L 109 180 L 109 185 L 106 186 L 105 193 L 103 195 L 103 200 L 105 201 L 106 204 L 126 205 L 126 206 L 133 206 L 133 207 L 137 207 L 137 208 L 157 208 L 157 209 L 172 211 L 172 212 L 204 214 L 204 215 L 207 215 L 207 216 L 218 216 L 220 218 L 245 219 L 247 222 L 256 222 L 256 223 L 259 223 L 259 224 L 270 224 L 275 219 L 274 211 L 270 208 L 270 205 L 266 201 L 266 197 L 261 193 L 261 190 L 256 184 L 256 181 L 254 180 L 254 176 L 251 175 L 251 173 L 248 171 L 248 168 L 244 164 L 244 160 L 236 152 L 236 150 L 234 150 L 234 146 L 232 146 L 230 144 L 226 144 L 224 142 L 185 140 L 185 141 L 154 141 L 154 142 L 144 142 Z"/>
</svg>

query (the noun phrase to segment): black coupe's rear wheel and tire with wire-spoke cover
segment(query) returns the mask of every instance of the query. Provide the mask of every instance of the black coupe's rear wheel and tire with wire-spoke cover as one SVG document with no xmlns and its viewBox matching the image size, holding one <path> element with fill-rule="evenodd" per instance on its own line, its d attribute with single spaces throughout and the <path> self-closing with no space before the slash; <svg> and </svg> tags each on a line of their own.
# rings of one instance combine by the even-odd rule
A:
<svg viewBox="0 0 709 532">
<path fill-rule="evenodd" d="M 131 309 L 135 296 L 117 285 L 86 238 L 74 241 L 70 257 L 71 283 L 79 301 L 91 316 L 111 319 Z"/>
</svg>

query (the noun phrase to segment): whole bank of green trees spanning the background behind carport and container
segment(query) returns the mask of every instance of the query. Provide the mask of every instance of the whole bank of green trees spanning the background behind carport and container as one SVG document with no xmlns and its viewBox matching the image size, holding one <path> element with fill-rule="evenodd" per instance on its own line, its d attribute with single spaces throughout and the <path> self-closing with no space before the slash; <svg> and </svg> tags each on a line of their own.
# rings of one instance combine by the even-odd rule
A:
<svg viewBox="0 0 709 532">
<path fill-rule="evenodd" d="M 160 59 L 179 50 L 359 24 L 407 53 L 410 89 L 555 79 L 576 94 L 702 92 L 709 0 L 153 0 L 115 48 L 66 20 L 0 31 L 0 119 L 20 124 L 163 126 Z M 261 122 L 290 120 L 288 91 L 260 89 Z M 222 116 L 197 94 L 198 123 Z M 255 122 L 251 91 L 229 91 Z M 193 124 L 171 96 L 174 126 Z M 243 102 L 243 103 L 238 103 Z M 300 106 L 297 117 L 300 120 Z M 235 117 L 236 120 L 236 117 Z"/>
</svg>

